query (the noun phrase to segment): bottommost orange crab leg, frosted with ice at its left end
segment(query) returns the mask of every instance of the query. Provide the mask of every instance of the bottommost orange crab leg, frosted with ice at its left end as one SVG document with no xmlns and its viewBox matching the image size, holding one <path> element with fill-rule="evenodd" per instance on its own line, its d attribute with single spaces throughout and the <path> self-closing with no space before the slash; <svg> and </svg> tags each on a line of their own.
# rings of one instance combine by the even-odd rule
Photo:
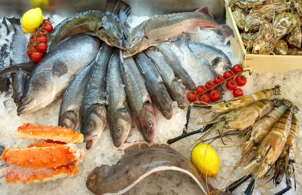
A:
<svg viewBox="0 0 302 195">
<path fill-rule="evenodd" d="M 57 168 L 42 168 L 38 170 L 10 165 L 6 175 L 6 183 L 44 182 L 66 176 L 72 177 L 79 172 L 79 168 L 74 164 L 61 165 Z"/>
</svg>

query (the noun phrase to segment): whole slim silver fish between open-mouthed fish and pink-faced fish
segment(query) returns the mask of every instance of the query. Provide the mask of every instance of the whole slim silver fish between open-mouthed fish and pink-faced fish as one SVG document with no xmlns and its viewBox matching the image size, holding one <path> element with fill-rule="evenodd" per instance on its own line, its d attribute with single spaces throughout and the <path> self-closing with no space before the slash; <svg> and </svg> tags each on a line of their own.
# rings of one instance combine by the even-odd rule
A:
<svg viewBox="0 0 302 195">
<path fill-rule="evenodd" d="M 121 76 L 118 50 L 113 51 L 109 61 L 106 91 L 110 135 L 113 145 L 120 147 L 129 135 L 132 116 Z"/>
</svg>

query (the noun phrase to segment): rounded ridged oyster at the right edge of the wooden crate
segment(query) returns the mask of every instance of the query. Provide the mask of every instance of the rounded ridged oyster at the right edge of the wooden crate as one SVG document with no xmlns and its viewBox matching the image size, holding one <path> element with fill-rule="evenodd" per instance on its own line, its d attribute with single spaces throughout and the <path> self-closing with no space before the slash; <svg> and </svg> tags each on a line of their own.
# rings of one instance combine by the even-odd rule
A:
<svg viewBox="0 0 302 195">
<path fill-rule="evenodd" d="M 290 33 L 299 23 L 299 18 L 293 13 L 281 13 L 273 21 L 278 38 Z"/>
</svg>

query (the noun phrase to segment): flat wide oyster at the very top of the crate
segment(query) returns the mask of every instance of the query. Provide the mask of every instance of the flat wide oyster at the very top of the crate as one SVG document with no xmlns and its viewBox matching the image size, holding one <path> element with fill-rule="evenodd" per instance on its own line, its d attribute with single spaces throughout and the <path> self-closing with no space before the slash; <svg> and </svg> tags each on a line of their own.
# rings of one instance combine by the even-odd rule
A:
<svg viewBox="0 0 302 195">
<path fill-rule="evenodd" d="M 290 7 L 290 2 L 256 6 L 251 10 L 251 13 L 261 12 L 263 15 L 266 16 L 266 18 L 268 18 L 269 20 L 273 20 L 273 18 L 276 17 L 278 14 L 288 10 L 289 7 Z"/>
</svg>

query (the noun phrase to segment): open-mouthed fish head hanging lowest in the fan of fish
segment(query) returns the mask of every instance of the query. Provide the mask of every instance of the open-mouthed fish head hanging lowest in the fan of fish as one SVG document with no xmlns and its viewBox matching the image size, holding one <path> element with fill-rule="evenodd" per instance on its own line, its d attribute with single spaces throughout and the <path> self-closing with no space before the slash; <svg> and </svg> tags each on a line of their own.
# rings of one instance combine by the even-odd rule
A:
<svg viewBox="0 0 302 195">
<path fill-rule="evenodd" d="M 107 124 L 107 109 L 103 104 L 95 104 L 90 109 L 83 123 L 81 133 L 84 135 L 86 149 L 90 149 L 101 137 Z"/>
</svg>

